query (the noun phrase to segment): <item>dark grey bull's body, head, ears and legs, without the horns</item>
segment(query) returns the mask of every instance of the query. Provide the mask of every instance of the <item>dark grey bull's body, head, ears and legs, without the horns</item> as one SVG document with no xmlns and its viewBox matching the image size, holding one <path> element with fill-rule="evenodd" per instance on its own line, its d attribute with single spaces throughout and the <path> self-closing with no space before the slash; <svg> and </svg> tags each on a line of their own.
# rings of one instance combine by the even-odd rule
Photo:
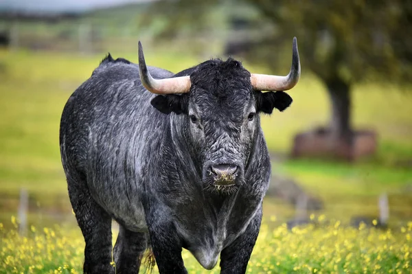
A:
<svg viewBox="0 0 412 274">
<path fill-rule="evenodd" d="M 260 113 L 283 111 L 283 91 L 262 93 L 240 62 L 208 60 L 174 75 L 190 92 L 155 95 L 139 67 L 108 55 L 69 98 L 60 151 L 82 230 L 85 273 L 137 273 L 152 248 L 160 273 L 187 273 L 188 249 L 205 269 L 244 273 L 262 218 L 271 163 Z"/>
</svg>

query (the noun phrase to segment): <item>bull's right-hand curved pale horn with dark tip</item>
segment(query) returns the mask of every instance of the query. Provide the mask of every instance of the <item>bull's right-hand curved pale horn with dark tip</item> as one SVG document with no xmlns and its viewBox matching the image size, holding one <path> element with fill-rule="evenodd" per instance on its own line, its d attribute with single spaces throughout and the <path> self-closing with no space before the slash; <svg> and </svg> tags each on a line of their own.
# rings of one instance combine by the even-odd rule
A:
<svg viewBox="0 0 412 274">
<path fill-rule="evenodd" d="M 251 83 L 258 91 L 287 91 L 297 84 L 300 78 L 299 52 L 297 51 L 296 37 L 293 38 L 292 67 L 287 76 L 266 74 L 251 74 Z"/>
</svg>

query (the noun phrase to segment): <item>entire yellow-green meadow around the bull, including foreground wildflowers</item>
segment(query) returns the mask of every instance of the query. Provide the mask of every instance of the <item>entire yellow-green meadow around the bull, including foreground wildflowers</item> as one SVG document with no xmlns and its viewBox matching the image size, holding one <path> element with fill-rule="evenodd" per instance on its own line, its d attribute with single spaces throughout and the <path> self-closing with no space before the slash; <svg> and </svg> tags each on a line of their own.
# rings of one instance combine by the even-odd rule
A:
<svg viewBox="0 0 412 274">
<path fill-rule="evenodd" d="M 113 57 L 120 54 L 112 52 Z M 202 60 L 147 50 L 146 61 L 179 71 Z M 137 54 L 122 54 L 137 62 Z M 84 242 L 71 214 L 60 163 L 58 127 L 69 95 L 104 54 L 0 52 L 0 273 L 80 273 Z M 251 71 L 269 73 L 264 67 Z M 286 73 L 279 71 L 276 73 Z M 398 90 L 399 89 L 399 90 Z M 264 225 L 249 273 L 410 273 L 412 223 L 412 93 L 410 87 L 365 83 L 354 87 L 353 123 L 378 132 L 376 156 L 334 163 L 287 155 L 300 130 L 325 124 L 329 105 L 321 82 L 304 71 L 284 113 L 262 119 L 273 173 L 295 179 L 324 208 L 309 225 L 288 231 L 294 209 L 264 201 Z M 29 233 L 16 232 L 19 191 L 30 194 Z M 389 194 L 389 230 L 347 224 L 355 214 L 378 216 L 376 197 Z M 330 222 L 325 221 L 324 215 Z M 333 220 L 333 221 L 332 221 Z M 58 225 L 57 225 L 58 224 Z M 202 271 L 183 253 L 190 273 Z"/>
</svg>

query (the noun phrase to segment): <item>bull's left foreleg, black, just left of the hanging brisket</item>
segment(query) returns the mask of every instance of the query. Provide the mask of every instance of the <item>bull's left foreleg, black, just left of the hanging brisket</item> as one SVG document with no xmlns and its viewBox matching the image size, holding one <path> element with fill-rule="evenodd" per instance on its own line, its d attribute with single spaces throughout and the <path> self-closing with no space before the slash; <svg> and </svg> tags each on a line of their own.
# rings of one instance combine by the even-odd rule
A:
<svg viewBox="0 0 412 274">
<path fill-rule="evenodd" d="M 152 207 L 153 208 L 153 207 Z M 186 274 L 182 258 L 182 243 L 176 232 L 176 227 L 168 220 L 168 216 L 150 210 L 146 213 L 150 244 L 160 274 Z"/>
</svg>

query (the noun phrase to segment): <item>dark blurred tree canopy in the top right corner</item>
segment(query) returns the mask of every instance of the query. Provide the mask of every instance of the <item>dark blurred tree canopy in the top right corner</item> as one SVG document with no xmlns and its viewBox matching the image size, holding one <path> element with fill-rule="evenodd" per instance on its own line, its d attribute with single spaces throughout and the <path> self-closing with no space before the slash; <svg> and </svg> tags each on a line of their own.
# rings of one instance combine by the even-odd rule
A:
<svg viewBox="0 0 412 274">
<path fill-rule="evenodd" d="M 380 73 L 411 81 L 412 2 L 250 1 L 277 24 L 274 39 L 299 37 L 302 63 L 324 81 L 347 84 Z"/>
</svg>

